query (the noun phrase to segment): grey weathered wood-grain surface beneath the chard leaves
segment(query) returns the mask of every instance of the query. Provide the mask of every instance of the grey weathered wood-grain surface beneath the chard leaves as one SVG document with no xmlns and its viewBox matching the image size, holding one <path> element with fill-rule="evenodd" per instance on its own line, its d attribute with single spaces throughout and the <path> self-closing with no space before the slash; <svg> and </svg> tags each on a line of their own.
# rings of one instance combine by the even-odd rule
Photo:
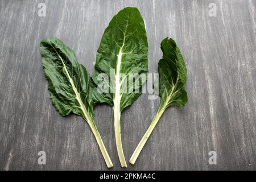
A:
<svg viewBox="0 0 256 182">
<path fill-rule="evenodd" d="M 38 4 L 46 4 L 46 17 Z M 217 16 L 210 17 L 209 3 Z M 141 11 L 149 43 L 149 69 L 157 73 L 160 42 L 174 38 L 188 69 L 188 104 L 163 114 L 130 170 L 256 169 L 256 1 L 0 1 L 0 169 L 107 169 L 88 125 L 61 117 L 49 100 L 39 43 L 57 36 L 93 72 L 101 36 L 126 6 Z M 122 113 L 128 162 L 158 109 L 143 94 Z M 113 111 L 96 107 L 98 129 L 113 160 Z M 46 165 L 38 152 L 46 152 Z M 208 152 L 217 152 L 209 165 Z M 112 169 L 112 170 L 113 170 Z"/>
</svg>

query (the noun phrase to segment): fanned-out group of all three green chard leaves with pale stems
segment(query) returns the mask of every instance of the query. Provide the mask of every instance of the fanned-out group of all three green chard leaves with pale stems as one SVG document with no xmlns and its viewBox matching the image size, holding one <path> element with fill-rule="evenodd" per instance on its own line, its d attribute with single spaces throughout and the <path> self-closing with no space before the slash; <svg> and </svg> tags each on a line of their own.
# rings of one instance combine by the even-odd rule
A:
<svg viewBox="0 0 256 182">
<path fill-rule="evenodd" d="M 169 38 L 162 41 L 161 49 L 163 58 L 158 63 L 159 109 L 131 156 L 131 164 L 137 160 L 164 111 L 170 106 L 182 107 L 188 100 L 185 92 L 187 69 L 180 49 Z M 147 36 L 139 10 L 126 7 L 110 21 L 97 51 L 92 78 L 85 67 L 77 62 L 72 49 L 59 39 L 42 40 L 40 50 L 53 106 L 63 116 L 74 113 L 85 119 L 108 167 L 113 167 L 113 164 L 93 118 L 97 102 L 113 106 L 118 157 L 121 166 L 127 167 L 121 139 L 121 112 L 141 95 L 148 72 Z M 103 91 L 99 87 L 102 83 L 106 88 Z"/>
</svg>

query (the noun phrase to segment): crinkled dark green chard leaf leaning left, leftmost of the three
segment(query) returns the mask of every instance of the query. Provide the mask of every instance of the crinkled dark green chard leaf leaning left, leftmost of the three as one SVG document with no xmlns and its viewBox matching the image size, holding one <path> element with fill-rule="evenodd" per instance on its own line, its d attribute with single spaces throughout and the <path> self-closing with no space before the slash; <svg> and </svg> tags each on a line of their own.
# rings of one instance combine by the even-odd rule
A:
<svg viewBox="0 0 256 182">
<path fill-rule="evenodd" d="M 113 167 L 93 119 L 94 105 L 100 94 L 85 67 L 77 63 L 75 53 L 57 38 L 40 43 L 44 75 L 56 110 L 63 116 L 81 115 L 90 126 L 108 167 Z"/>
</svg>

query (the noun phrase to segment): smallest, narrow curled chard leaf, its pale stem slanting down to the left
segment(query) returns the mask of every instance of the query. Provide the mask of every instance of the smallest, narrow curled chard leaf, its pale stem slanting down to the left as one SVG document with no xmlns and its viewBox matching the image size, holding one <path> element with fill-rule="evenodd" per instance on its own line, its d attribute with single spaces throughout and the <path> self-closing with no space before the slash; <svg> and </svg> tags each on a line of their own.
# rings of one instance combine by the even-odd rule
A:
<svg viewBox="0 0 256 182">
<path fill-rule="evenodd" d="M 164 110 L 170 106 L 183 107 L 188 101 L 187 92 L 185 92 L 187 69 L 180 49 L 174 40 L 168 38 L 162 41 L 161 49 L 163 51 L 163 58 L 158 63 L 160 106 L 151 125 L 131 156 L 131 164 L 134 164 L 137 160 L 139 153 L 147 142 L 148 137 L 150 137 Z"/>
</svg>

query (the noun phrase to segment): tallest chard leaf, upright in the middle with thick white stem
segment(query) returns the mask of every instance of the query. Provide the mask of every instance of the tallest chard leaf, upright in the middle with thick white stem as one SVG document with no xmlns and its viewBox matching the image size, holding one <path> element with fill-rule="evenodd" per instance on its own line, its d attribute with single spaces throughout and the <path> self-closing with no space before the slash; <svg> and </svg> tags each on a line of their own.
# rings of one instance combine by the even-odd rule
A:
<svg viewBox="0 0 256 182">
<path fill-rule="evenodd" d="M 133 104 L 141 95 L 141 90 L 130 91 L 136 86 L 141 89 L 146 81 L 146 74 L 142 73 L 148 72 L 147 51 L 147 35 L 139 10 L 135 7 L 126 7 L 119 11 L 102 36 L 93 80 L 99 85 L 98 76 L 101 73 L 105 73 L 111 79 L 108 82 L 110 93 L 105 92 L 100 102 L 113 105 L 115 142 L 122 167 L 127 167 L 127 164 L 122 149 L 120 115 L 125 107 Z M 136 81 L 133 84 L 127 84 L 134 79 L 130 77 L 134 73 L 140 75 L 135 77 L 135 80 L 139 80 L 139 84 Z"/>
</svg>

